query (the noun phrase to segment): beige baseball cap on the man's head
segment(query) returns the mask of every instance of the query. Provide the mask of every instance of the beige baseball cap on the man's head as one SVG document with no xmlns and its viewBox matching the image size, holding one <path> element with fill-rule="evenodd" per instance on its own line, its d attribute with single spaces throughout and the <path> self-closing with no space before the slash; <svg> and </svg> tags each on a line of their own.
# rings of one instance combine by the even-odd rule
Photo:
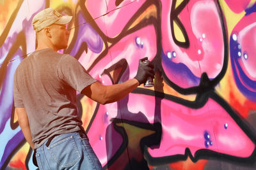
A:
<svg viewBox="0 0 256 170">
<path fill-rule="evenodd" d="M 38 32 L 52 24 L 68 24 L 71 19 L 72 16 L 62 16 L 58 11 L 46 8 L 35 15 L 32 25 Z"/>
</svg>

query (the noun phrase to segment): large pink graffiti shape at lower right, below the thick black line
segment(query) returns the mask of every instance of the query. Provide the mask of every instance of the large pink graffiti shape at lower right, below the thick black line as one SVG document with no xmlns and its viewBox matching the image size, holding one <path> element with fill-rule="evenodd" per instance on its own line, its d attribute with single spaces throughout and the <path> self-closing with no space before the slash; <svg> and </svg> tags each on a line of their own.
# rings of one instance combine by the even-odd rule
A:
<svg viewBox="0 0 256 170">
<path fill-rule="evenodd" d="M 138 95 L 132 97 L 133 102 L 129 108 L 142 97 Z M 154 97 L 150 102 L 147 101 L 143 103 L 147 105 L 145 114 L 148 118 L 152 118 L 154 106 L 150 107 L 150 103 L 154 102 Z M 207 148 L 236 157 L 250 157 L 255 148 L 251 139 L 227 111 L 212 99 L 196 110 L 163 99 L 161 111 L 163 136 L 159 148 L 148 149 L 152 157 L 184 154 L 185 148 L 189 148 L 193 156 L 196 151 Z M 205 132 L 209 134 L 206 136 L 209 140 L 205 139 Z M 205 146 L 205 141 L 209 142 L 208 146 Z"/>
</svg>

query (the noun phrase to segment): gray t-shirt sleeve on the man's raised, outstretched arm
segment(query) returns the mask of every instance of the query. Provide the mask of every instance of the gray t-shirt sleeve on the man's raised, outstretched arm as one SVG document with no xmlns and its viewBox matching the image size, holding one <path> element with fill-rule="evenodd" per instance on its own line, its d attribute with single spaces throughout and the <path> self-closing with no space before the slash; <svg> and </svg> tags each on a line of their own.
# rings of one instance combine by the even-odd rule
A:
<svg viewBox="0 0 256 170">
<path fill-rule="evenodd" d="M 78 92 L 81 92 L 85 87 L 97 81 L 92 78 L 77 59 L 68 54 L 63 55 L 60 60 L 58 76 Z"/>
</svg>

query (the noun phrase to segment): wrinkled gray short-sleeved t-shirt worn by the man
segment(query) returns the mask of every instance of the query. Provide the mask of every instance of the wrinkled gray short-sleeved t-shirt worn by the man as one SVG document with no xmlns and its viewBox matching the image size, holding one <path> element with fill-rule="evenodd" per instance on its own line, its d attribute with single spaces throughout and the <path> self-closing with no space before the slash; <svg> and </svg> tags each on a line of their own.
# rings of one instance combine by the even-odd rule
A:
<svg viewBox="0 0 256 170">
<path fill-rule="evenodd" d="M 95 81 L 74 57 L 50 48 L 20 62 L 14 75 L 14 103 L 26 108 L 35 148 L 56 134 L 81 130 L 76 90 Z"/>
</svg>

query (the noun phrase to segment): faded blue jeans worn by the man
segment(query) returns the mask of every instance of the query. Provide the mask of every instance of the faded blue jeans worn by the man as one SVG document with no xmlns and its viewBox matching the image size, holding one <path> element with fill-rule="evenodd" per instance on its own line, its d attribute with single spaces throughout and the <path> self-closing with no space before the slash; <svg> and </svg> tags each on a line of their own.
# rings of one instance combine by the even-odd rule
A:
<svg viewBox="0 0 256 170">
<path fill-rule="evenodd" d="M 49 146 L 36 148 L 39 169 L 102 169 L 86 135 L 79 132 L 55 136 Z"/>
</svg>

